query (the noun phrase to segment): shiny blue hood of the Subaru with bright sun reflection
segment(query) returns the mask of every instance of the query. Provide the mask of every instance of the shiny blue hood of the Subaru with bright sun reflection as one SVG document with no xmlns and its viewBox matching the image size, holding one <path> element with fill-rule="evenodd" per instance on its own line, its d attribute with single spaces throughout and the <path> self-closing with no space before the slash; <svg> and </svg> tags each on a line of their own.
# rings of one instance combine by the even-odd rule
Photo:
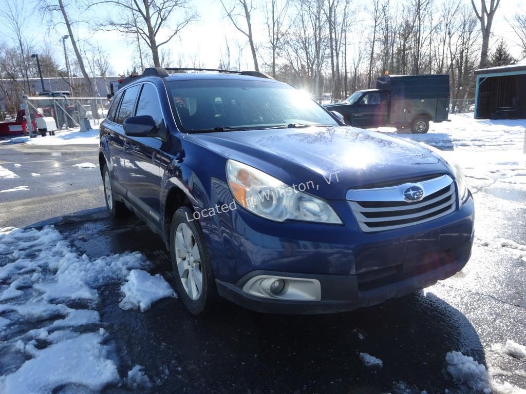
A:
<svg viewBox="0 0 526 394">
<path fill-rule="evenodd" d="M 354 127 L 199 133 L 185 139 L 288 185 L 311 182 L 308 191 L 326 199 L 343 200 L 350 188 L 451 174 L 446 162 L 416 142 Z"/>
</svg>

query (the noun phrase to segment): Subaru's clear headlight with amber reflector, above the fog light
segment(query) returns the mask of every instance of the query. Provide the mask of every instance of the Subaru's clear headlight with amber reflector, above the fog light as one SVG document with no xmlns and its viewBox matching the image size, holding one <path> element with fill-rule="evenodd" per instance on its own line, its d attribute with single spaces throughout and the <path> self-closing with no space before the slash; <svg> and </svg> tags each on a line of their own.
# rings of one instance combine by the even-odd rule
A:
<svg viewBox="0 0 526 394">
<path fill-rule="evenodd" d="M 301 192 L 250 165 L 227 161 L 227 180 L 236 201 L 248 211 L 276 222 L 287 219 L 341 224 L 324 200 Z M 303 184 L 306 189 L 312 184 Z M 298 186 L 299 187 L 299 186 Z M 301 189 L 301 188 L 300 188 Z"/>
</svg>

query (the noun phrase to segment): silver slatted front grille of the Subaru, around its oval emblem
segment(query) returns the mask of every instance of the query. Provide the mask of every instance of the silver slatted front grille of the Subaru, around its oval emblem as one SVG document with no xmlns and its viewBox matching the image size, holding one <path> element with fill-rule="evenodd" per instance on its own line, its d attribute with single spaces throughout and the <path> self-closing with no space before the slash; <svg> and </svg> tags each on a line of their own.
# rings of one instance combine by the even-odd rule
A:
<svg viewBox="0 0 526 394">
<path fill-rule="evenodd" d="M 408 202 L 404 191 L 419 186 L 424 194 Z M 375 189 L 351 189 L 346 199 L 363 232 L 385 231 L 428 222 L 455 210 L 455 184 L 448 175 L 396 186 Z"/>
</svg>

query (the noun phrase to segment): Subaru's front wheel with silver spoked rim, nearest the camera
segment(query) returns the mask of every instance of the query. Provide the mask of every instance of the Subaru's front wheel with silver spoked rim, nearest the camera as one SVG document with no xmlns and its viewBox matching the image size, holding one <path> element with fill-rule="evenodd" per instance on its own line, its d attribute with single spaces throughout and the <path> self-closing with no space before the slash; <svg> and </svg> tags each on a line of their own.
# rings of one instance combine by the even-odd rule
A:
<svg viewBox="0 0 526 394">
<path fill-rule="evenodd" d="M 201 226 L 186 206 L 179 208 L 170 225 L 170 255 L 177 293 L 194 315 L 207 312 L 217 298 L 214 273 Z"/>
</svg>

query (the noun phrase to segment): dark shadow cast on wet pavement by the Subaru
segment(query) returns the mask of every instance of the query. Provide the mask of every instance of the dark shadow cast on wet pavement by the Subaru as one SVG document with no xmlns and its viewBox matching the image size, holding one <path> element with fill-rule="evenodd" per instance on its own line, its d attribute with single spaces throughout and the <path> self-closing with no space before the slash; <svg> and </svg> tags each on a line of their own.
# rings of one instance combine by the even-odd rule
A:
<svg viewBox="0 0 526 394">
<path fill-rule="evenodd" d="M 90 212 L 90 215 L 93 215 Z M 173 284 L 160 237 L 131 216 L 56 222 L 89 257 L 140 251 Z M 119 374 L 144 367 L 162 393 L 443 393 L 455 388 L 446 354 L 461 351 L 485 366 L 484 350 L 466 316 L 431 292 L 330 315 L 270 315 L 226 300 L 205 316 L 165 298 L 144 313 L 118 307 L 120 284 L 99 289 L 97 309 Z M 367 367 L 360 354 L 383 362 Z M 103 392 L 129 392 L 123 386 Z"/>
</svg>

